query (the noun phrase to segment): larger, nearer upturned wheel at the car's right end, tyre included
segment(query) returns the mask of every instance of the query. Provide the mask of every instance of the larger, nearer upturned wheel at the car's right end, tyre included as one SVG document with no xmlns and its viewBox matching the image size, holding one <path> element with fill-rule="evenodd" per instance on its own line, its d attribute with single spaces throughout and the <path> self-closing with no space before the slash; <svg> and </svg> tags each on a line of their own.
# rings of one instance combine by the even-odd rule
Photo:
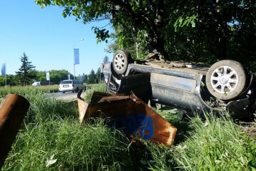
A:
<svg viewBox="0 0 256 171">
<path fill-rule="evenodd" d="M 236 99 L 247 86 L 247 72 L 237 61 L 221 60 L 209 68 L 206 85 L 212 96 L 218 99 Z"/>
</svg>

